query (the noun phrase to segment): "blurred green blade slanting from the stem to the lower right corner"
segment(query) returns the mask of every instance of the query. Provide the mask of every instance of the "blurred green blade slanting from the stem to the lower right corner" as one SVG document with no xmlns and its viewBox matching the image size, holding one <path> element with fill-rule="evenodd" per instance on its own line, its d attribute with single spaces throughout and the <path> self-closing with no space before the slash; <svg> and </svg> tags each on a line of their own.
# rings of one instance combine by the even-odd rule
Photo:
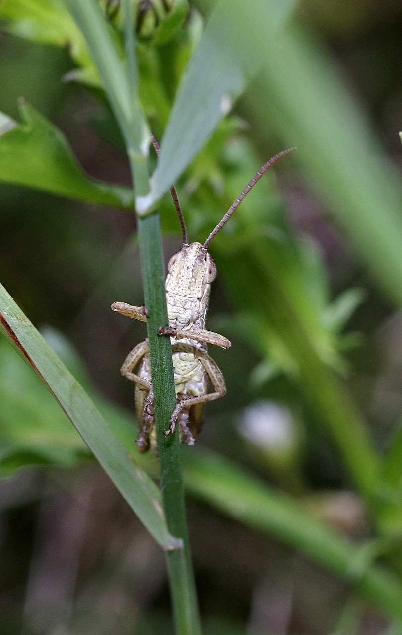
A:
<svg viewBox="0 0 402 635">
<path fill-rule="evenodd" d="M 402 625 L 401 582 L 372 565 L 365 556 L 365 545 L 352 544 L 290 498 L 210 452 L 186 451 L 184 476 L 187 491 L 194 497 L 325 565 Z"/>
</svg>

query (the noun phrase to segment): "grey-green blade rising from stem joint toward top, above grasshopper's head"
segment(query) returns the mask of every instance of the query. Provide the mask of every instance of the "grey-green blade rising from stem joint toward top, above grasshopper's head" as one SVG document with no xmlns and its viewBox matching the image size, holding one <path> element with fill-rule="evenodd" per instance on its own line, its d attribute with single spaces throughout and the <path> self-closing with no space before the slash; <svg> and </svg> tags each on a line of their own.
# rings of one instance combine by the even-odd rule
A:
<svg viewBox="0 0 402 635">
<path fill-rule="evenodd" d="M 262 60 L 251 53 L 249 44 L 258 22 L 264 23 L 265 37 L 271 39 L 292 5 L 293 0 L 251 0 L 243 6 L 229 0 L 218 3 L 191 57 L 161 143 L 152 177 L 155 201 L 201 150 L 260 68 Z"/>
</svg>

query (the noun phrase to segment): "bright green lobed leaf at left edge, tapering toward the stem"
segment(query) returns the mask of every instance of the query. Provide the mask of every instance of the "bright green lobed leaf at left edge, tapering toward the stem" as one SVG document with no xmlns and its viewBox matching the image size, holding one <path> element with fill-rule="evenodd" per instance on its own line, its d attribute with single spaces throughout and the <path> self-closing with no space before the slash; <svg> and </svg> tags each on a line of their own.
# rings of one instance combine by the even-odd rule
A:
<svg viewBox="0 0 402 635">
<path fill-rule="evenodd" d="M 88 177 L 64 135 L 29 104 L 20 104 L 22 123 L 1 113 L 0 180 L 27 185 L 79 201 L 128 208 L 131 189 Z"/>
</svg>

